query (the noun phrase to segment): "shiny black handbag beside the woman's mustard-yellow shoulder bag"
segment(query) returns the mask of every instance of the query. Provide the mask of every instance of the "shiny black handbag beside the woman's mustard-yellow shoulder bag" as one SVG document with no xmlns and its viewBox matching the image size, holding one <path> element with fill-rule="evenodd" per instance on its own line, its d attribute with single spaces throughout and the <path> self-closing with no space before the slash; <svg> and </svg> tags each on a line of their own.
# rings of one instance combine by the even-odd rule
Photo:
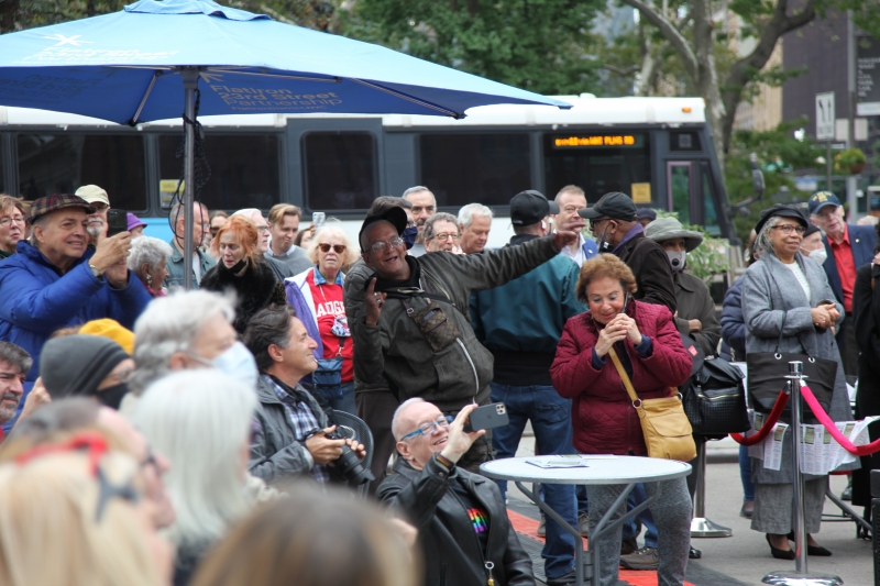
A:
<svg viewBox="0 0 880 586">
<path fill-rule="evenodd" d="M 693 374 L 680 387 L 694 435 L 721 439 L 751 429 L 743 372 L 722 358 L 703 358 L 702 352 L 691 350 L 698 347 L 689 336 L 682 335 L 682 341 L 694 356 Z"/>
</svg>

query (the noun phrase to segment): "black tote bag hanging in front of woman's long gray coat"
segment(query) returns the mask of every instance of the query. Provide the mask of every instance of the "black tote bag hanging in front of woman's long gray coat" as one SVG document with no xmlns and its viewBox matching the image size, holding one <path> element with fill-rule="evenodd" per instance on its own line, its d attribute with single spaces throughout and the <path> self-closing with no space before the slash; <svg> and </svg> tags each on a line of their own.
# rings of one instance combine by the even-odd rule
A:
<svg viewBox="0 0 880 586">
<path fill-rule="evenodd" d="M 818 400 L 825 412 L 832 405 L 834 385 L 837 380 L 838 364 L 836 361 L 818 358 L 809 354 L 794 352 L 780 352 L 782 344 L 782 330 L 785 325 L 788 311 L 782 312 L 782 321 L 779 325 L 779 341 L 777 341 L 776 352 L 751 352 L 746 355 L 746 364 L 749 371 L 749 400 L 751 407 L 760 413 L 769 413 L 773 410 L 779 391 L 785 388 L 785 376 L 789 375 L 790 362 L 802 362 L 804 365 L 804 376 L 806 385 Z M 800 340 L 800 336 L 798 336 Z M 803 342 L 801 343 L 802 347 Z M 801 414 L 804 423 L 818 423 L 818 419 L 813 414 L 813 410 L 806 402 L 802 401 Z M 780 421 L 791 423 L 791 405 L 787 403 Z"/>
</svg>

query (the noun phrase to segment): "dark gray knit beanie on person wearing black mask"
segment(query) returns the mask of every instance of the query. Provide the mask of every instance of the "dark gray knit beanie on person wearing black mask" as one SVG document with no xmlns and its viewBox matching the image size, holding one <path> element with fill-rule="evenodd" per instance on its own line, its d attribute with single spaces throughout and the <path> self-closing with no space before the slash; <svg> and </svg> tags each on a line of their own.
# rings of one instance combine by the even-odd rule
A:
<svg viewBox="0 0 880 586">
<path fill-rule="evenodd" d="M 98 385 L 130 356 L 122 346 L 97 335 L 50 340 L 40 354 L 40 376 L 52 400 L 73 395 L 94 396 Z"/>
</svg>

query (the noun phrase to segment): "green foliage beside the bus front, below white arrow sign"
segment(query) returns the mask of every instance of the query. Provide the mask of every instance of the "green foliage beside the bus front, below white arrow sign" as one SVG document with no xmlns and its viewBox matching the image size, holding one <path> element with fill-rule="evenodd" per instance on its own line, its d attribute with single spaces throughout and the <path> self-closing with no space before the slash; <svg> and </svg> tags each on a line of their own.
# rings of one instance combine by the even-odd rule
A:
<svg viewBox="0 0 880 586">
<path fill-rule="evenodd" d="M 730 140 L 730 152 L 725 165 L 725 183 L 727 198 L 732 203 L 744 201 L 755 196 L 751 179 L 751 162 L 755 153 L 763 172 L 766 191 L 765 199 L 748 208 L 748 217 L 734 218 L 736 232 L 745 242 L 760 211 L 773 203 L 791 203 L 806 200 L 794 187 L 794 169 L 815 168 L 816 159 L 824 156 L 824 150 L 813 139 L 803 141 L 794 137 L 793 131 L 806 124 L 805 119 L 783 122 L 773 130 L 758 132 L 752 130 L 734 131 Z"/>
</svg>

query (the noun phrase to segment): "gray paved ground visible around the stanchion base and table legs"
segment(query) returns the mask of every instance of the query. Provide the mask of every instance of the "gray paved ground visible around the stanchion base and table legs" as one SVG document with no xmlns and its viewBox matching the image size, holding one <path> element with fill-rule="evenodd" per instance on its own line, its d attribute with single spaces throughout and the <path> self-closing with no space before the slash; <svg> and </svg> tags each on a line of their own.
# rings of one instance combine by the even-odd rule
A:
<svg viewBox="0 0 880 586">
<path fill-rule="evenodd" d="M 532 439 L 524 438 L 517 455 L 534 454 L 532 446 Z M 730 450 L 733 446 L 722 444 L 713 446 L 713 450 L 715 449 Z M 710 460 L 724 460 L 724 457 Z M 845 478 L 832 477 L 832 487 L 836 494 L 839 494 L 845 486 Z M 537 507 L 527 504 L 526 497 L 513 484 L 508 495 L 526 501 L 512 504 L 512 510 L 525 516 L 537 515 Z M 724 539 L 693 540 L 693 545 L 703 551 L 703 559 L 691 561 L 689 565 L 688 582 L 694 586 L 760 585 L 761 577 L 770 572 L 794 570 L 794 562 L 771 557 L 763 534 L 749 529 L 750 521 L 739 517 L 741 500 L 739 466 L 735 463 L 710 464 L 706 472 L 706 517 L 732 528 L 734 534 Z M 529 515 L 529 510 L 534 511 L 532 515 Z M 837 513 L 838 509 L 831 500 L 826 500 L 825 512 Z M 816 540 L 834 555 L 809 557 L 811 572 L 837 574 L 847 586 L 870 586 L 875 583 L 871 544 L 856 539 L 856 528 L 853 522 L 823 522 Z M 535 544 L 537 545 L 539 544 Z M 622 575 L 622 578 L 625 576 Z M 636 581 L 627 582 L 636 584 Z M 638 584 L 642 583 L 645 581 L 638 581 Z"/>
</svg>

